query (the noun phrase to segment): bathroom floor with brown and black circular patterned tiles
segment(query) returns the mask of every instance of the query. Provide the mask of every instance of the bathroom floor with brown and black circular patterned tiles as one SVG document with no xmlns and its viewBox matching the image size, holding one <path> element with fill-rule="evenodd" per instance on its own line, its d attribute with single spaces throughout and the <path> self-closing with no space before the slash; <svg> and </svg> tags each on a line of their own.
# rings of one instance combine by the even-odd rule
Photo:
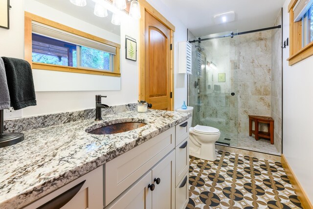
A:
<svg viewBox="0 0 313 209">
<path fill-rule="evenodd" d="M 190 156 L 186 209 L 301 209 L 280 162 L 218 151 L 208 162 Z"/>
</svg>

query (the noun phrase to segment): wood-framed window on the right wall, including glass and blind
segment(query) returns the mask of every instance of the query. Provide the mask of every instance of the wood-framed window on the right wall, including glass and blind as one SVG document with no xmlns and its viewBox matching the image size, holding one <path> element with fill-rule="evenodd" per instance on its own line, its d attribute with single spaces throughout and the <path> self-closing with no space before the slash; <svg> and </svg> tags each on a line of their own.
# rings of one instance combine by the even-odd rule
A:
<svg viewBox="0 0 313 209">
<path fill-rule="evenodd" d="M 291 0 L 288 10 L 291 66 L 313 55 L 313 0 Z"/>
</svg>

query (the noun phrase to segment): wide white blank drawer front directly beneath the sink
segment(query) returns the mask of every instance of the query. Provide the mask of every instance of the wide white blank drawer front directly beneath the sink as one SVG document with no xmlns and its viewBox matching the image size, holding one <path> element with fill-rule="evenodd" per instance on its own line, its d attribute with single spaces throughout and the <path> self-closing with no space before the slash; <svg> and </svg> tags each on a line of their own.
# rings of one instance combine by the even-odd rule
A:
<svg viewBox="0 0 313 209">
<path fill-rule="evenodd" d="M 175 127 L 140 144 L 104 165 L 104 206 L 175 148 Z"/>
</svg>

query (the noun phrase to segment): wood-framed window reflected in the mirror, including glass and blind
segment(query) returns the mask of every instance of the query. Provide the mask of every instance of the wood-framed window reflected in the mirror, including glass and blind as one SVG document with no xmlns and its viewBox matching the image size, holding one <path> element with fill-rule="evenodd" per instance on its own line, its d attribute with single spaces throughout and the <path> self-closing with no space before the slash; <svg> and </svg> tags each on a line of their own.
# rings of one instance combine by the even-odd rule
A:
<svg viewBox="0 0 313 209">
<path fill-rule="evenodd" d="M 25 60 L 33 69 L 120 76 L 120 45 L 25 12 Z"/>
</svg>

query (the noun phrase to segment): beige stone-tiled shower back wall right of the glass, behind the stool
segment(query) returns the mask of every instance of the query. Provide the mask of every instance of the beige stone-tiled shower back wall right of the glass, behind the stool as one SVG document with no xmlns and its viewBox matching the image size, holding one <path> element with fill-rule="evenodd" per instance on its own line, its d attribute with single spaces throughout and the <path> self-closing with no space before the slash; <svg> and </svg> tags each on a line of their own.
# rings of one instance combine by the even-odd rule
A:
<svg viewBox="0 0 313 209">
<path fill-rule="evenodd" d="M 238 61 L 238 69 L 232 69 L 238 93 L 238 133 L 248 136 L 248 115 L 270 116 L 271 31 L 240 35 L 233 43 L 238 53 L 233 61 Z"/>
</svg>

